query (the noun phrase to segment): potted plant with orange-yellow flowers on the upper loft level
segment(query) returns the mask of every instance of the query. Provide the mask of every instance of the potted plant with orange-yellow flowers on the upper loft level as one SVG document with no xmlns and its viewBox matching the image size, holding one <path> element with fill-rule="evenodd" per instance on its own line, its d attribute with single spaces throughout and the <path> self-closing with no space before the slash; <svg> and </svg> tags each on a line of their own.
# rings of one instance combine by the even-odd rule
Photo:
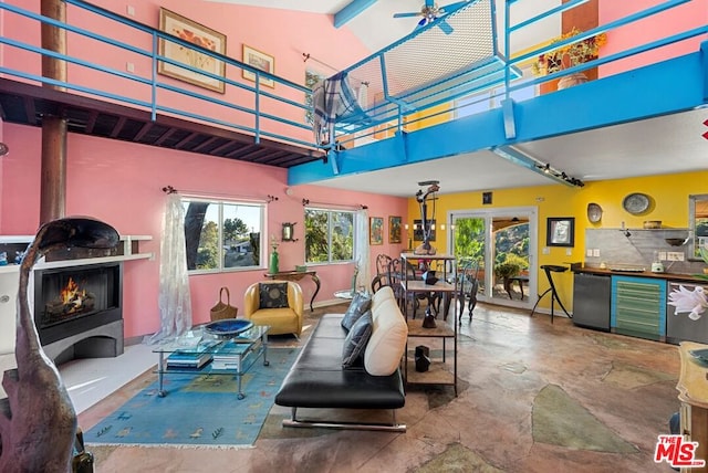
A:
<svg viewBox="0 0 708 473">
<path fill-rule="evenodd" d="M 573 28 L 571 31 L 563 33 L 551 41 L 551 44 L 560 43 L 569 38 L 576 36 L 580 30 Z M 600 49 L 607 42 L 605 33 L 595 34 L 581 41 L 575 41 L 564 46 L 540 54 L 533 63 L 532 71 L 535 75 L 553 74 L 565 69 L 573 67 L 577 64 L 585 63 L 597 59 Z M 587 81 L 587 76 L 582 73 L 570 74 L 559 81 L 558 88 L 570 87 Z"/>
</svg>

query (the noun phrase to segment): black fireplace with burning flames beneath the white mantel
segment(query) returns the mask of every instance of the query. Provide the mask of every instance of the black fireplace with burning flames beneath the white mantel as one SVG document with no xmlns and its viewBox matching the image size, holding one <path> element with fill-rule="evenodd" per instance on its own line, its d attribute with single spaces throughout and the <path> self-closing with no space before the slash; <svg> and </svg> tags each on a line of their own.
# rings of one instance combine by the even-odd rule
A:
<svg viewBox="0 0 708 473">
<path fill-rule="evenodd" d="M 34 324 L 55 362 L 123 353 L 123 263 L 34 271 Z"/>
</svg>

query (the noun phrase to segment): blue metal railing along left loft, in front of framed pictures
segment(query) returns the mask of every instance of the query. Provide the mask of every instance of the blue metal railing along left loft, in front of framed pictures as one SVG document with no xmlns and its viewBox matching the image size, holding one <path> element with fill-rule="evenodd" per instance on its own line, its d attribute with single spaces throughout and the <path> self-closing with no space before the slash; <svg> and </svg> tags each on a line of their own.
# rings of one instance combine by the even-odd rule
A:
<svg viewBox="0 0 708 473">
<path fill-rule="evenodd" d="M 53 20 L 37 12 L 19 8 L 9 3 L 0 2 L 0 9 L 6 10 L 11 14 L 6 15 L 6 21 L 13 21 L 12 15 L 18 18 L 30 19 L 39 23 L 49 24 L 60 28 L 75 34 L 86 41 L 96 41 L 105 46 L 117 48 L 121 50 L 122 60 L 126 62 L 137 63 L 140 60 L 149 61 L 149 73 L 138 75 L 135 73 L 128 73 L 118 69 L 100 64 L 95 61 L 76 57 L 72 55 L 72 51 L 67 54 L 62 54 L 55 51 L 50 51 L 8 36 L 0 36 L 0 43 L 10 46 L 14 50 L 30 52 L 37 55 L 38 62 L 41 56 L 49 56 L 56 60 L 65 61 L 76 67 L 81 67 L 85 71 L 96 72 L 105 74 L 112 78 L 118 78 L 127 81 L 126 85 L 117 87 L 119 90 L 111 88 L 97 88 L 94 84 L 82 84 L 77 82 L 64 82 L 54 78 L 43 77 L 40 74 L 32 73 L 31 69 L 12 69 L 4 64 L 0 65 L 0 73 L 8 76 L 19 77 L 25 81 L 38 82 L 41 84 L 49 84 L 55 87 L 63 87 L 67 91 L 86 94 L 105 99 L 116 101 L 123 104 L 135 106 L 138 108 L 149 109 L 153 119 L 155 119 L 158 113 L 170 114 L 179 117 L 184 117 L 191 120 L 202 122 L 205 124 L 223 127 L 232 130 L 242 132 L 253 135 L 254 143 L 259 143 L 261 137 L 271 138 L 274 140 L 287 141 L 299 146 L 316 148 L 312 135 L 311 125 L 304 120 L 305 111 L 308 107 L 304 105 L 304 96 L 310 93 L 310 90 L 303 87 L 300 84 L 295 84 L 291 81 L 284 80 L 273 74 L 269 74 L 259 69 L 256 69 L 249 64 L 228 57 L 223 54 L 200 48 L 188 41 L 181 40 L 177 36 L 173 36 L 168 33 L 153 29 L 145 24 L 138 23 L 131 19 L 115 14 L 108 10 L 92 6 L 82 0 L 64 0 L 69 6 L 81 8 L 83 10 L 95 13 L 101 18 L 108 19 L 113 22 L 128 27 L 136 34 L 142 34 L 142 39 L 132 38 L 133 43 L 107 38 L 101 33 L 81 28 L 79 25 L 63 23 L 61 21 Z M 136 45 L 142 41 L 149 42 L 150 48 L 145 49 Z M 256 76 L 254 85 L 239 82 L 230 78 L 228 75 L 220 76 L 218 74 L 210 73 L 197 69 L 188 63 L 179 62 L 175 59 L 160 55 L 158 53 L 159 41 L 169 41 L 175 44 L 181 45 L 187 49 L 198 51 L 199 54 L 212 57 L 216 61 L 225 63 L 227 70 L 238 71 L 240 75 L 241 71 L 247 71 Z M 199 74 L 201 76 L 223 83 L 226 87 L 236 87 L 239 91 L 244 91 L 247 99 L 240 104 L 232 103 L 230 98 L 233 93 L 229 92 L 223 98 L 216 96 L 215 94 L 206 94 L 197 92 L 196 87 L 189 87 L 181 85 L 179 81 L 164 80 L 162 75 L 157 74 L 158 62 L 165 64 L 171 64 L 178 66 L 185 71 Z M 72 76 L 76 76 L 73 74 Z M 283 87 L 283 95 L 293 95 L 292 92 L 302 94 L 302 103 L 293 99 L 283 98 L 274 93 L 263 91 L 261 87 L 261 80 L 273 81 L 279 87 Z M 132 85 L 131 85 L 132 84 Z M 136 87 L 137 92 L 136 93 Z M 139 87 L 145 87 L 140 90 Z M 129 91 L 131 93 L 124 93 L 123 91 Z M 143 92 L 148 98 L 139 98 L 139 92 Z M 165 95 L 160 99 L 160 94 Z M 174 95 L 178 94 L 183 97 L 189 97 L 198 101 L 198 105 L 191 105 L 190 107 L 175 107 L 168 104 L 174 102 L 169 99 Z M 250 99 L 248 97 L 250 96 Z M 267 109 L 264 102 L 268 101 L 270 107 Z M 205 109 L 205 104 L 210 106 Z M 277 106 L 274 104 L 278 104 Z M 219 112 L 221 111 L 221 112 Z M 230 115 L 238 113 L 239 120 L 229 119 Z M 302 117 L 301 122 L 294 119 L 294 117 Z M 288 118 L 289 117 L 289 118 Z M 266 124 L 270 124 L 266 125 Z M 278 133 L 277 129 L 285 129 L 287 133 Z"/>
</svg>

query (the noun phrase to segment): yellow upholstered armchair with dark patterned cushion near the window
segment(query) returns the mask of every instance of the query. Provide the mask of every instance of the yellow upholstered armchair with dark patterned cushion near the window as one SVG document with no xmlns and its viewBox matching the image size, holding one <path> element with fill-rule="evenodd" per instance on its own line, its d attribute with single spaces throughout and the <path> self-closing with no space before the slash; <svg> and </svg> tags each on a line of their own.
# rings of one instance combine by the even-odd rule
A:
<svg viewBox="0 0 708 473">
<path fill-rule="evenodd" d="M 270 335 L 302 332 L 304 304 L 300 284 L 293 281 L 262 281 L 243 294 L 243 316 L 256 325 L 270 325 Z"/>
</svg>

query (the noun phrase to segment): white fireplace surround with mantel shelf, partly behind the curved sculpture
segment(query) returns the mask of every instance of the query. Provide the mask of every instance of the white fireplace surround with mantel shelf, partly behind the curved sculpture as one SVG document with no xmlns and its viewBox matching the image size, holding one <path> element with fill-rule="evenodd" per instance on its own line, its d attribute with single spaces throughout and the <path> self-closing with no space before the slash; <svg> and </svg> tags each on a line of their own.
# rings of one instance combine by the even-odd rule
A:
<svg viewBox="0 0 708 473">
<path fill-rule="evenodd" d="M 34 236 L 32 235 L 4 235 L 0 236 L 0 245 L 2 244 L 17 244 L 17 243 L 27 243 L 29 244 Z M 149 235 L 123 235 L 121 236 L 121 244 L 123 244 L 123 254 L 115 256 L 100 256 L 100 257 L 85 257 L 79 260 L 63 260 L 63 261 L 52 261 L 45 262 L 40 260 L 34 265 L 35 270 L 42 269 L 52 269 L 52 267 L 71 267 L 71 266 L 82 266 L 87 264 L 96 264 L 96 263 L 110 263 L 110 262 L 119 262 L 119 261 L 133 261 L 133 260 L 153 260 L 155 256 L 154 253 L 140 253 L 134 252 L 134 242 L 139 241 L 149 241 L 153 240 Z M 8 255 L 10 261 L 13 260 L 12 255 Z M 7 266 L 0 266 L 0 355 L 13 354 L 14 353 L 14 332 L 15 332 L 15 317 L 17 317 L 17 298 L 18 298 L 18 288 L 19 288 L 19 278 L 20 278 L 20 265 L 19 264 L 8 264 Z M 29 287 L 30 293 L 32 293 L 33 287 Z M 33 304 L 33 297 L 30 297 L 30 304 Z M 94 333 L 95 332 L 95 333 Z M 106 336 L 114 338 L 116 335 L 121 335 L 121 345 L 122 345 L 122 335 L 123 335 L 123 320 L 119 323 L 107 324 L 103 327 L 97 327 L 95 329 L 88 330 L 81 338 L 85 338 L 85 336 Z M 77 337 L 69 337 L 64 340 L 59 340 L 56 343 L 51 344 L 49 347 L 44 347 L 45 351 L 48 351 L 48 356 L 51 358 L 55 358 L 63 350 L 71 347 L 75 343 L 81 341 Z M 122 350 L 123 347 L 121 346 Z M 95 356 L 102 356 L 100 353 L 95 354 Z"/>
</svg>

